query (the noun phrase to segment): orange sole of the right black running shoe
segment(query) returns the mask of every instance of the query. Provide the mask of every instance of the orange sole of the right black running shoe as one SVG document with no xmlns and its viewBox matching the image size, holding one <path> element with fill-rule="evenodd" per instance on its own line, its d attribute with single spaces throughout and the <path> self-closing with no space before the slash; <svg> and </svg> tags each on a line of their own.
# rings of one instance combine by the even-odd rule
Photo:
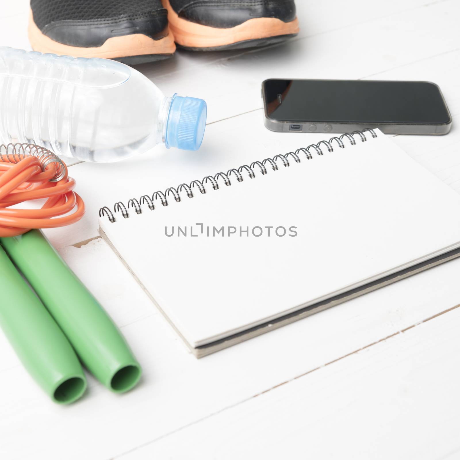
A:
<svg viewBox="0 0 460 460">
<path fill-rule="evenodd" d="M 299 21 L 285 23 L 276 17 L 248 19 L 242 24 L 227 29 L 204 26 L 182 19 L 173 10 L 169 0 L 162 0 L 168 10 L 169 28 L 176 43 L 194 51 L 262 46 L 286 40 L 299 33 Z"/>
</svg>

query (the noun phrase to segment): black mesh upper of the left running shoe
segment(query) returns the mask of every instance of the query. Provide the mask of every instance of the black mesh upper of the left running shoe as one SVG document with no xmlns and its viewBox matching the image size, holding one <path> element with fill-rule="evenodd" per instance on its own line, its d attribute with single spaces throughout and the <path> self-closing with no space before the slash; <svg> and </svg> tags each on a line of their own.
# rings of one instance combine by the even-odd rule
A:
<svg viewBox="0 0 460 460">
<path fill-rule="evenodd" d="M 39 29 L 55 21 L 89 21 L 148 14 L 163 8 L 161 0 L 30 0 Z"/>
</svg>

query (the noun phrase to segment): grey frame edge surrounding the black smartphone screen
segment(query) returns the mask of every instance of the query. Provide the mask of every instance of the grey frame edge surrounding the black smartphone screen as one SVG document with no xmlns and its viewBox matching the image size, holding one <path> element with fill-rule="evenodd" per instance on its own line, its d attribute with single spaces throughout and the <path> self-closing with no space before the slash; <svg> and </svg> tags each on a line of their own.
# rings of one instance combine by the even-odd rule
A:
<svg viewBox="0 0 460 460">
<path fill-rule="evenodd" d="M 327 123 L 325 121 L 317 120 L 304 120 L 304 121 L 279 121 L 270 118 L 267 113 L 267 104 L 265 97 L 265 82 L 269 80 L 293 80 L 293 81 L 342 81 L 342 80 L 324 80 L 324 79 L 303 79 L 303 78 L 268 78 L 262 82 L 262 99 L 264 101 L 264 124 L 270 131 L 275 132 L 331 132 L 331 133 L 343 133 L 352 131 L 362 131 L 365 128 L 380 129 L 385 134 L 447 134 L 452 127 L 452 115 L 450 115 L 449 108 L 447 107 L 441 88 L 432 81 L 425 81 L 425 83 L 431 83 L 435 85 L 439 90 L 439 94 L 443 100 L 444 107 L 449 115 L 449 122 L 447 123 L 429 123 L 422 125 L 420 123 L 355 123 L 341 121 L 337 123 Z M 373 80 L 376 82 L 385 80 Z M 401 81 L 404 83 L 420 83 L 420 81 L 406 81 L 406 80 L 395 80 L 395 82 Z M 300 125 L 300 129 L 291 129 L 291 126 Z"/>
</svg>

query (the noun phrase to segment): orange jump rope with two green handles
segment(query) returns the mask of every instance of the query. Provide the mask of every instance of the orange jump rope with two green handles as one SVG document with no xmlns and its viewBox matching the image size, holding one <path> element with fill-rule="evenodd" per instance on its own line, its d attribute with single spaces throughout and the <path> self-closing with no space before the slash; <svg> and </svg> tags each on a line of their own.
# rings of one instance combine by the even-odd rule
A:
<svg viewBox="0 0 460 460">
<path fill-rule="evenodd" d="M 85 392 L 81 364 L 114 392 L 130 390 L 141 375 L 118 328 L 38 230 L 81 219 L 85 205 L 74 188 L 50 150 L 0 145 L 0 325 L 56 403 Z M 38 199 L 46 199 L 40 209 L 11 208 Z"/>
</svg>

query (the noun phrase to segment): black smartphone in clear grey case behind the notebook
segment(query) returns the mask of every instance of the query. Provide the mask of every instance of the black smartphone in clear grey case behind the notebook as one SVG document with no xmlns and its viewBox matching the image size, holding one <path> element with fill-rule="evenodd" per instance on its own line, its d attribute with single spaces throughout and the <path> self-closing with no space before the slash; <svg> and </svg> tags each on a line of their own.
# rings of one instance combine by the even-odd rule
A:
<svg viewBox="0 0 460 460">
<path fill-rule="evenodd" d="M 446 134 L 452 117 L 429 81 L 277 80 L 262 83 L 265 126 L 277 132 Z"/>
</svg>

